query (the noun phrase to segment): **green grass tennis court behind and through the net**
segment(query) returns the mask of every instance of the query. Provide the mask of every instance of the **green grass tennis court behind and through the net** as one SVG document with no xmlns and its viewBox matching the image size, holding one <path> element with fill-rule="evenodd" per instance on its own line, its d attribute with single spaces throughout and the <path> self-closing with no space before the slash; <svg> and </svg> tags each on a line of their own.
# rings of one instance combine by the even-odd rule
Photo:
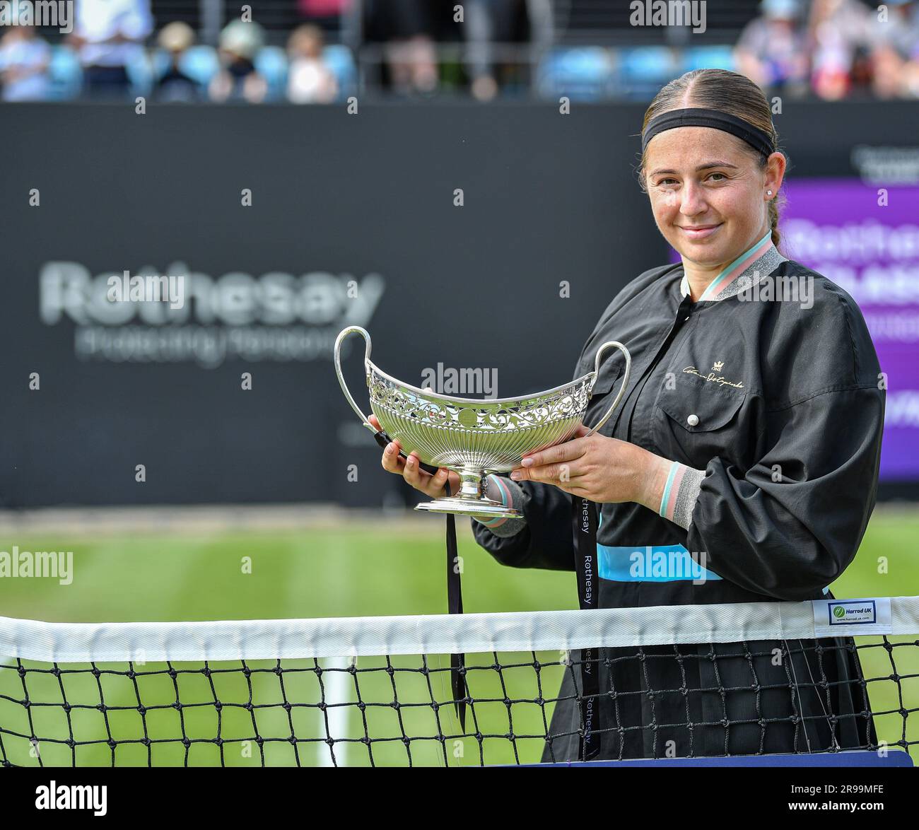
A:
<svg viewBox="0 0 919 830">
<path fill-rule="evenodd" d="M 442 613 L 446 598 L 444 587 L 445 553 L 443 519 L 408 526 L 388 522 L 377 524 L 354 521 L 346 528 L 326 526 L 314 529 L 229 530 L 213 529 L 194 534 L 98 534 L 66 533 L 41 537 L 28 533 L 6 533 L 4 547 L 13 543 L 20 550 L 73 550 L 74 581 L 61 586 L 51 579 L 0 580 L 0 616 L 50 621 L 137 621 L 137 620 L 244 620 L 297 617 L 388 616 L 401 614 Z M 528 611 L 575 608 L 573 574 L 556 574 L 505 568 L 491 559 L 471 539 L 465 522 L 459 524 L 459 552 L 463 557 L 463 590 L 467 611 Z M 919 594 L 919 561 L 913 553 L 913 540 L 919 535 L 919 517 L 899 511 L 879 511 L 872 519 L 866 540 L 856 562 L 843 579 L 834 585 L 837 597 L 906 596 Z M 887 573 L 879 573 L 879 557 L 887 557 Z M 881 569 L 883 570 L 883 569 Z M 249 573 L 247 573 L 249 572 Z M 919 673 L 919 649 L 898 650 L 897 667 L 902 674 Z M 862 662 L 867 677 L 885 677 L 891 672 L 888 654 L 883 649 L 867 649 Z M 521 655 L 514 655 L 519 658 Z M 530 655 L 524 654 L 529 658 Z M 556 693 L 562 665 L 547 665 L 538 677 L 532 665 L 517 665 L 495 672 L 487 668 L 490 655 L 471 658 L 481 670 L 471 673 L 471 691 L 476 699 L 498 702 L 477 703 L 468 715 L 475 719 L 482 733 L 539 735 L 544 732 L 543 717 L 549 708 L 535 704 L 514 707 L 514 722 L 508 722 L 504 697 L 535 699 Z M 446 700 L 449 695 L 448 658 L 434 655 L 420 672 L 420 657 L 393 658 L 393 671 L 385 668 L 386 658 L 362 658 L 357 679 L 361 698 L 387 700 L 392 688 L 398 688 L 399 699 Z M 539 654 L 540 662 L 557 664 L 558 654 Z M 510 655 L 502 663 L 514 662 Z M 351 701 L 354 678 L 346 673 L 341 661 L 323 660 L 323 674 L 328 699 Z M 292 711 L 281 705 L 291 701 L 321 699 L 319 680 L 312 660 L 285 661 L 283 684 L 275 664 L 249 664 L 248 677 L 235 664 L 233 671 L 215 671 L 204 677 L 200 666 L 174 664 L 178 677 L 170 677 L 165 665 L 146 665 L 142 677 L 129 679 L 123 674 L 94 677 L 88 672 L 65 675 L 29 674 L 29 696 L 33 700 L 61 700 L 60 683 L 66 684 L 68 699 L 98 699 L 100 684 L 108 706 L 133 706 L 137 689 L 142 685 L 145 705 L 151 700 L 164 706 L 153 706 L 143 718 L 130 708 L 108 712 L 108 722 L 100 711 L 74 711 L 74 740 L 96 740 L 111 735 L 115 740 L 143 735 L 208 739 L 216 730 L 216 715 L 208 702 L 214 689 L 221 699 L 256 700 L 264 708 L 246 711 L 229 707 L 221 712 L 221 736 L 229 742 L 253 733 L 252 719 L 257 719 L 258 733 L 277 736 L 264 747 L 266 763 L 304 765 L 331 763 L 329 748 L 323 743 L 329 722 L 333 719 L 336 736 L 354 738 L 354 743 L 336 744 L 338 763 L 369 762 L 369 748 L 359 743 L 364 734 L 364 718 L 369 718 L 374 732 L 392 734 L 395 740 L 374 744 L 376 764 L 404 764 L 406 746 L 398 736 L 454 734 L 459 726 L 453 720 L 452 707 L 432 711 L 429 705 L 392 711 L 386 706 L 369 706 L 360 712 L 355 706 L 319 711 L 316 707 L 297 707 Z M 47 665 L 43 666 L 48 668 Z M 105 667 L 101 666 L 100 667 Z M 187 674 L 183 668 L 190 668 Z M 220 669 L 221 665 L 212 665 Z M 86 668 L 86 666 L 82 666 Z M 119 670 L 125 668 L 118 666 Z M 6 672 L 0 695 L 21 697 L 21 682 Z M 538 684 L 541 683 L 541 687 Z M 18 687 L 17 687 L 18 684 Z M 213 686 L 211 686 L 213 684 Z M 179 689 L 182 711 L 170 707 Z M 914 708 L 919 700 L 919 678 L 902 682 L 902 689 Z M 873 684 L 869 689 L 875 711 L 897 710 L 902 703 L 896 698 L 893 683 Z M 56 696 L 56 697 L 55 697 Z M 5 714 L 6 712 L 6 714 Z M 44 737 L 67 738 L 67 723 L 60 707 L 33 707 L 34 732 Z M 441 722 L 437 723 L 437 718 Z M 14 719 L 11 722 L 10 719 Z M 145 721 L 142 723 L 142 720 Z M 899 715 L 876 720 L 880 737 L 895 741 L 902 727 Z M 284 740 L 293 723 L 298 738 L 305 743 L 296 747 Z M 919 739 L 919 715 L 907 721 L 909 740 Z M 22 708 L 0 699 L 0 725 L 6 729 L 29 733 Z M 6 751 L 17 756 L 17 763 L 35 764 L 28 756 L 28 743 L 7 739 Z M 486 739 L 481 747 L 487 763 L 514 763 L 539 760 L 541 740 L 524 739 L 512 745 L 506 740 Z M 914 748 L 913 748 L 914 749 Z M 415 764 L 442 764 L 445 747 L 437 740 L 413 740 L 410 747 Z M 153 745 L 153 762 L 182 764 L 221 763 L 221 748 L 210 743 L 193 743 L 190 747 L 170 743 Z M 457 757 L 456 746 L 446 747 L 448 763 L 476 764 L 480 745 L 465 739 Z M 140 744 L 118 747 L 119 764 L 145 764 L 147 749 Z M 242 754 L 239 745 L 230 743 L 223 749 L 228 765 L 261 763 L 258 747 Z M 42 760 L 47 764 L 70 763 L 65 745 L 45 743 Z M 107 745 L 81 746 L 81 764 L 108 764 Z M 919 760 L 919 758 L 917 758 Z"/>
</svg>

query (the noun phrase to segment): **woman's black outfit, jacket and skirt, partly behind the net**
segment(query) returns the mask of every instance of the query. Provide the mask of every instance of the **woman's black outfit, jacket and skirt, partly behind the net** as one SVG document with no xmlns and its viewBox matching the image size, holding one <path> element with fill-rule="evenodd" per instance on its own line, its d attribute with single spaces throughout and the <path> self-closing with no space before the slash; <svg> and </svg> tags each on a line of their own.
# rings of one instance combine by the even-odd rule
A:
<svg viewBox="0 0 919 830">
<path fill-rule="evenodd" d="M 682 266 L 658 267 L 619 292 L 587 339 L 574 377 L 593 369 L 596 349 L 607 340 L 621 341 L 632 356 L 628 392 L 601 434 L 704 471 L 688 529 L 634 503 L 598 506 L 598 557 L 601 548 L 608 559 L 618 551 L 682 546 L 697 558 L 702 552 L 711 576 L 701 584 L 652 579 L 639 567 L 636 576 L 618 578 L 621 573 L 604 574 L 601 567 L 600 608 L 826 597 L 855 556 L 877 491 L 885 395 L 878 358 L 844 290 L 777 259 L 766 281 L 779 287 L 780 278 L 790 276 L 800 286 L 810 283 L 810 307 L 763 299 L 765 290 L 758 300 L 747 290 L 693 303 L 683 293 Z M 584 418 L 588 426 L 618 390 L 623 364 L 615 352 L 601 367 Z M 573 570 L 571 496 L 549 484 L 522 486 L 526 526 L 500 538 L 473 520 L 476 540 L 507 565 Z M 815 651 L 818 643 L 829 651 Z M 869 718 L 857 714 L 868 703 L 851 642 L 746 646 L 719 646 L 719 654 L 737 655 L 724 658 L 709 645 L 688 646 L 686 661 L 675 659 L 670 646 L 666 661 L 613 659 L 601 666 L 607 691 L 602 756 L 660 756 L 668 740 L 677 756 L 870 743 Z M 776 666 L 773 649 L 799 654 L 783 656 Z M 622 651 L 604 654 L 615 658 Z M 576 674 L 569 672 L 562 685 L 550 729 L 562 738 L 550 740 L 547 760 L 576 756 Z M 789 677 L 799 689 L 808 687 L 797 699 L 789 694 Z M 764 688 L 770 679 L 780 691 Z M 674 691 L 684 685 L 712 691 Z M 733 689 L 727 697 L 726 688 Z M 725 727 L 728 709 L 729 720 L 750 722 Z M 796 713 L 802 722 L 792 722 Z M 834 713 L 841 720 L 833 730 L 828 716 Z"/>
</svg>

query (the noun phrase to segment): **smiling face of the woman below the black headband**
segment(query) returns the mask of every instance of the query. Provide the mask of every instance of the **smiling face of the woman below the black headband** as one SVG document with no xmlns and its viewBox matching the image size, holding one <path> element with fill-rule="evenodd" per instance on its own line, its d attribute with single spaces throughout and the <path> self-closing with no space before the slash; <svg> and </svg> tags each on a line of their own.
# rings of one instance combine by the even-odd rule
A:
<svg viewBox="0 0 919 830">
<path fill-rule="evenodd" d="M 649 142 L 644 178 L 664 239 L 684 261 L 716 268 L 766 235 L 768 199 L 778 193 L 784 170 L 781 153 L 762 169 L 728 132 L 677 127 Z"/>
</svg>

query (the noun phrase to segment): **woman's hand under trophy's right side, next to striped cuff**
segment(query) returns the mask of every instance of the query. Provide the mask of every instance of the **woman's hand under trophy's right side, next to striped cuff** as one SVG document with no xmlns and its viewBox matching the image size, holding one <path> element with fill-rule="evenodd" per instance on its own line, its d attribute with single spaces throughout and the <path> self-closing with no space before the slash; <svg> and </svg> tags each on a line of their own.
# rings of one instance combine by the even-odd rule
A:
<svg viewBox="0 0 919 830">
<path fill-rule="evenodd" d="M 670 462 L 618 438 L 585 438 L 589 431 L 579 426 L 571 440 L 524 456 L 511 478 L 554 484 L 597 504 L 637 502 L 656 511 Z"/>
</svg>

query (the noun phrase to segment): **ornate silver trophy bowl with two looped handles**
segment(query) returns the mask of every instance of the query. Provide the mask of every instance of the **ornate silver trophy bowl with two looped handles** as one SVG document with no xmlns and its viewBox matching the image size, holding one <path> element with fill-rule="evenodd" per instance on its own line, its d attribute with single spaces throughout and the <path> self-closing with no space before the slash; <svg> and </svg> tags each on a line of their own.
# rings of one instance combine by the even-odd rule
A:
<svg viewBox="0 0 919 830">
<path fill-rule="evenodd" d="M 462 516 L 518 517 L 520 512 L 482 494 L 482 478 L 489 472 L 510 472 L 524 455 L 572 438 L 581 426 L 584 411 L 596 383 L 600 362 L 607 349 L 618 348 L 626 367 L 616 399 L 592 426 L 588 435 L 607 423 L 629 385 L 631 358 L 621 343 L 610 340 L 596 350 L 594 370 L 574 381 L 523 398 L 473 400 L 418 389 L 386 374 L 370 360 L 370 335 L 359 325 L 343 329 L 335 339 L 335 374 L 348 404 L 373 433 L 347 388 L 341 368 L 341 347 L 347 335 L 364 338 L 364 372 L 370 409 L 387 436 L 398 440 L 403 454 L 418 454 L 431 468 L 447 467 L 459 473 L 456 495 L 424 502 L 415 510 Z"/>
</svg>

